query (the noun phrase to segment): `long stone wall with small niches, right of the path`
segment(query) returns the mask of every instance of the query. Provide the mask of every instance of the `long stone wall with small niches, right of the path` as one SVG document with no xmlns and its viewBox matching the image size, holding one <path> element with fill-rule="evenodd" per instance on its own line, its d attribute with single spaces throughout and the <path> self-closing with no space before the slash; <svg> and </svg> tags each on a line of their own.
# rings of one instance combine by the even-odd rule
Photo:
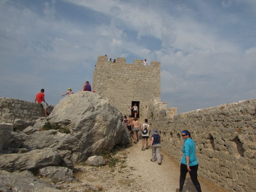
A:
<svg viewBox="0 0 256 192">
<path fill-rule="evenodd" d="M 196 143 L 198 174 L 228 191 L 256 191 L 256 99 L 177 114 L 159 98 L 142 106 L 162 150 L 180 162 L 182 130 Z"/>
</svg>

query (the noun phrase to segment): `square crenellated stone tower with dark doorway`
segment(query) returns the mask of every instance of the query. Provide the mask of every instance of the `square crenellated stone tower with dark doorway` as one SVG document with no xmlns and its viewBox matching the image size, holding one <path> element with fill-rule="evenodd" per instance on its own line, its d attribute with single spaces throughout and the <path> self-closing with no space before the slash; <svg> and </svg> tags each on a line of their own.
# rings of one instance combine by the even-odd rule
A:
<svg viewBox="0 0 256 192">
<path fill-rule="evenodd" d="M 160 62 L 151 61 L 150 66 L 144 66 L 143 60 L 135 59 L 134 64 L 129 64 L 125 58 L 116 58 L 111 63 L 107 56 L 99 56 L 93 72 L 93 90 L 127 117 L 137 103 L 140 118 L 143 111 L 140 106 L 161 97 Z"/>
</svg>

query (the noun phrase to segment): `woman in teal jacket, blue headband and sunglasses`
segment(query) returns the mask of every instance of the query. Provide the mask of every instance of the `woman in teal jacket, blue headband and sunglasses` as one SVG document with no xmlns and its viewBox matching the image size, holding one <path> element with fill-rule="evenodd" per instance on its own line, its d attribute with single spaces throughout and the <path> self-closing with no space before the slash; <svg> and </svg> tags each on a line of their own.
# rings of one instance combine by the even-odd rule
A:
<svg viewBox="0 0 256 192">
<path fill-rule="evenodd" d="M 197 180 L 198 163 L 195 155 L 195 142 L 191 139 L 190 132 L 187 130 L 183 130 L 181 136 L 184 140 L 184 145 L 182 148 L 183 157 L 180 162 L 179 189 L 176 189 L 176 192 L 182 191 L 187 172 L 189 172 L 190 178 L 195 185 L 196 190 L 201 192 L 201 186 Z"/>
</svg>

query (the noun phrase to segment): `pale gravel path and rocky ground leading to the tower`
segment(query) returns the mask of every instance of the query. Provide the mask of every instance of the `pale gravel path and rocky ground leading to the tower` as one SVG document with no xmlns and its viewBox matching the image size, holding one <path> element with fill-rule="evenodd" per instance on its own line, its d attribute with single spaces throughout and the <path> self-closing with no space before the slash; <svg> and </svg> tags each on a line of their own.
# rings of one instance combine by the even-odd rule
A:
<svg viewBox="0 0 256 192">
<path fill-rule="evenodd" d="M 150 141 L 149 141 L 150 144 Z M 74 176 L 76 182 L 58 184 L 62 191 L 109 191 L 109 192 L 150 192 L 175 191 L 179 186 L 179 164 L 168 155 L 162 154 L 162 165 L 151 162 L 152 150 L 141 150 L 142 141 L 121 149 L 112 157 L 112 164 L 102 167 L 78 165 L 81 170 Z M 113 166 L 114 162 L 116 165 Z M 111 167 L 113 166 L 113 167 Z M 225 191 L 216 185 L 199 178 L 202 191 Z M 189 174 L 183 188 L 186 192 L 196 192 Z"/>
</svg>

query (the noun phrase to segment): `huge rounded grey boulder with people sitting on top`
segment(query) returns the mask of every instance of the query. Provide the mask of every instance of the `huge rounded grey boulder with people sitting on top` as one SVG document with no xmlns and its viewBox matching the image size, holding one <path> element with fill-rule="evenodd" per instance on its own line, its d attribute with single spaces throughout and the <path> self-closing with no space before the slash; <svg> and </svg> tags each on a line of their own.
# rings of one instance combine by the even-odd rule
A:
<svg viewBox="0 0 256 192">
<path fill-rule="evenodd" d="M 130 143 L 130 134 L 121 122 L 120 112 L 98 94 L 79 91 L 62 99 L 41 124 L 49 131 L 28 136 L 24 148 L 46 147 L 61 151 L 61 157 L 72 162 L 111 151 L 116 145 Z M 62 133 L 61 133 L 62 132 Z"/>
</svg>

